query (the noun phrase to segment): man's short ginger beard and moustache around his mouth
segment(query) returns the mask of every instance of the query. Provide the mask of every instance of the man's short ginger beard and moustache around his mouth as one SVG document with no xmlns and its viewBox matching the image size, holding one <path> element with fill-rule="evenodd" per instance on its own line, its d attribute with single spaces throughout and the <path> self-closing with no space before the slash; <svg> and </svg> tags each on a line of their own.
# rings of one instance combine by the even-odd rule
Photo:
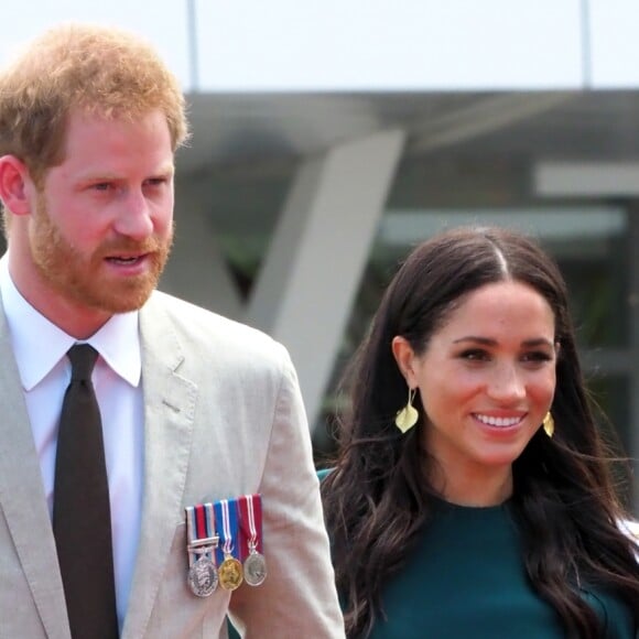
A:
<svg viewBox="0 0 639 639">
<path fill-rule="evenodd" d="M 151 237 L 137 242 L 120 237 L 85 256 L 63 237 L 40 194 L 30 236 L 33 262 L 56 293 L 78 305 L 107 313 L 127 313 L 140 308 L 158 285 L 169 259 L 173 231 L 165 240 Z M 148 269 L 129 278 L 112 275 L 105 258 L 118 254 L 144 254 Z"/>
</svg>

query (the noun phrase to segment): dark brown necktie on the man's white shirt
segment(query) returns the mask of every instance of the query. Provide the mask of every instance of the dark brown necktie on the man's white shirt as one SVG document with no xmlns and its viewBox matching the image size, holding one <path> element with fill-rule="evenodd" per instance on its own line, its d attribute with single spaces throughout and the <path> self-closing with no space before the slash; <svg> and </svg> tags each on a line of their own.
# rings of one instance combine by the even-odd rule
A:
<svg viewBox="0 0 639 639">
<path fill-rule="evenodd" d="M 98 354 L 76 344 L 67 356 L 72 378 L 64 396 L 53 531 L 74 639 L 118 637 L 109 486 L 100 412 L 91 371 Z"/>
</svg>

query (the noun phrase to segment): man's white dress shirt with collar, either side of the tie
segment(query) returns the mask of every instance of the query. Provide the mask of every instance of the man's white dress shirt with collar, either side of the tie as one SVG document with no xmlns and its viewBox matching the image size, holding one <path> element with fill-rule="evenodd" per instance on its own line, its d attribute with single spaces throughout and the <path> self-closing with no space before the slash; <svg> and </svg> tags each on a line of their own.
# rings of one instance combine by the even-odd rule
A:
<svg viewBox="0 0 639 639">
<path fill-rule="evenodd" d="M 57 429 L 62 401 L 71 380 L 71 362 L 65 355 L 77 340 L 20 294 L 9 274 L 7 256 L 0 260 L 0 294 L 52 516 Z M 93 381 L 102 420 L 121 631 L 142 509 L 144 402 L 138 313 L 113 315 L 86 343 L 100 355 Z"/>
</svg>

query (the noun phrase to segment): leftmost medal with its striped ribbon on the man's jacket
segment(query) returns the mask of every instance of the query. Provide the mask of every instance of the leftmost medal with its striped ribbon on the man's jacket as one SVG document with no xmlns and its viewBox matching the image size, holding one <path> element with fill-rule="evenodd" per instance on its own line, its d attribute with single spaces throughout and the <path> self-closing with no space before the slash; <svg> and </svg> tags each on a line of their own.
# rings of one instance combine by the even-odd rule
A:
<svg viewBox="0 0 639 639">
<path fill-rule="evenodd" d="M 186 507 L 188 574 L 186 583 L 197 597 L 208 597 L 217 588 L 218 574 L 215 550 L 219 538 L 215 534 L 213 503 Z"/>
</svg>

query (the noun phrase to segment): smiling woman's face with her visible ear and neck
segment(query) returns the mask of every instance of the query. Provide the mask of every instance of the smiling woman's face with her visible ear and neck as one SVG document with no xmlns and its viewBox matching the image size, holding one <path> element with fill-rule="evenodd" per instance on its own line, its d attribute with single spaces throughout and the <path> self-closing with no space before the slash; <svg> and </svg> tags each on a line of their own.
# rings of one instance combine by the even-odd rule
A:
<svg viewBox="0 0 639 639">
<path fill-rule="evenodd" d="M 468 294 L 415 355 L 393 353 L 427 415 L 424 446 L 458 502 L 499 501 L 512 490 L 512 463 L 540 427 L 555 389 L 557 347 L 551 307 L 534 289 L 503 281 Z"/>
</svg>

